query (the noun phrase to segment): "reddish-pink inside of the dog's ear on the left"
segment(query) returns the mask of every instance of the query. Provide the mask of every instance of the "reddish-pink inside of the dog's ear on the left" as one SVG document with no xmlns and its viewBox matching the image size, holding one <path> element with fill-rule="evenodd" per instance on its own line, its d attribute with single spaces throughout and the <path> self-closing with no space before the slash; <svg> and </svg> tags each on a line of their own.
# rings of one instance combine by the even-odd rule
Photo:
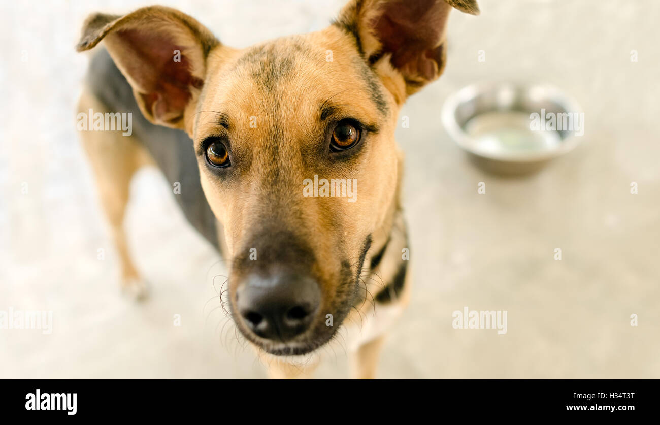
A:
<svg viewBox="0 0 660 425">
<path fill-rule="evenodd" d="M 121 65 L 139 86 L 147 110 L 164 123 L 181 119 L 191 98 L 191 86 L 200 88 L 203 84 L 191 74 L 183 48 L 168 36 L 145 30 L 119 30 L 116 35 L 125 46 L 119 58 Z M 174 61 L 175 50 L 181 52 L 181 61 Z"/>
</svg>

